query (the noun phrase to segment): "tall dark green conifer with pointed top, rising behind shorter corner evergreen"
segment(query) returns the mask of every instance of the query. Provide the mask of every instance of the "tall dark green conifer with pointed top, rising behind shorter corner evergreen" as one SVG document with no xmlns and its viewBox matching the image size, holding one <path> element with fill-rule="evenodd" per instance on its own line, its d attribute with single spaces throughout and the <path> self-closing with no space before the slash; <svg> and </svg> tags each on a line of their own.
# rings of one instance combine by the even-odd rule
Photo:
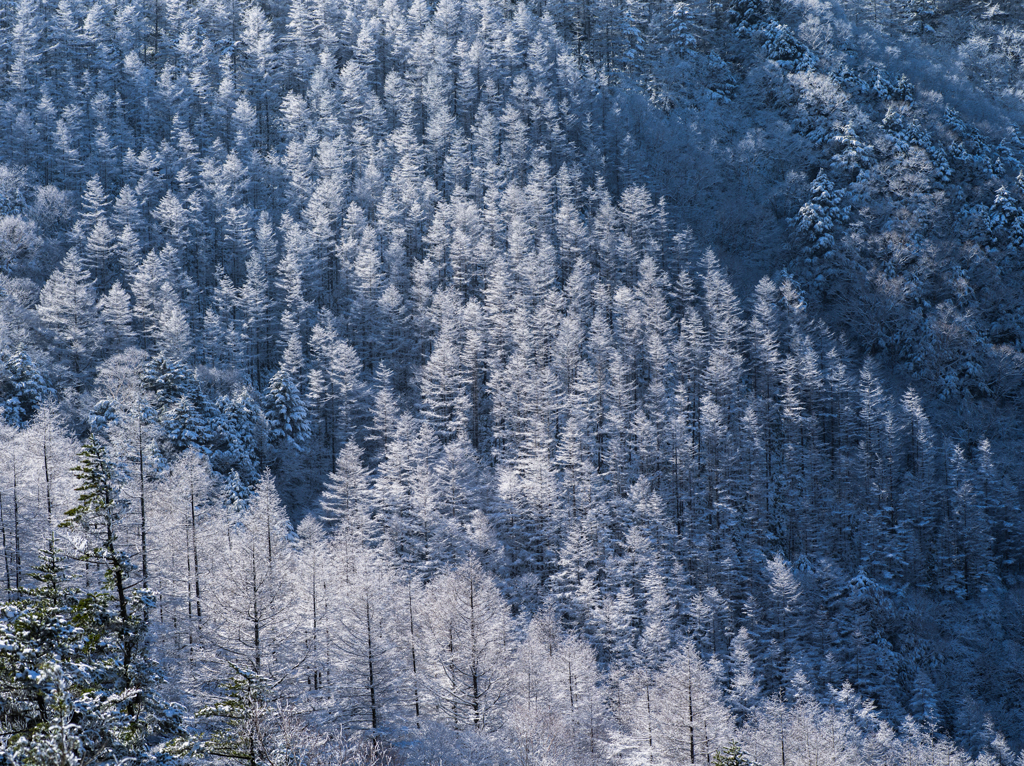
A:
<svg viewBox="0 0 1024 766">
<path fill-rule="evenodd" d="M 133 579 L 134 566 L 120 545 L 124 509 L 116 500 L 113 466 L 103 448 L 90 437 L 72 472 L 78 479 L 78 504 L 67 512 L 61 526 L 74 529 L 85 541 L 71 562 L 82 566 L 79 578 L 84 589 L 61 590 L 60 578 L 70 580 L 61 571 L 70 567 L 54 553 L 56 545 L 51 542 L 43 557 L 44 567 L 49 569 L 41 571 L 45 587 L 26 595 L 30 607 L 36 604 L 38 610 L 45 606 L 40 612 L 41 625 L 52 619 L 59 628 L 42 645 L 67 657 L 71 680 L 60 681 L 58 673 L 52 689 L 66 706 L 81 709 L 61 719 L 62 723 L 82 732 L 82 752 L 77 756 L 81 762 L 175 762 L 179 720 L 160 699 L 160 678 L 147 654 L 147 594 Z M 93 572 L 101 576 L 99 582 Z M 76 681 L 74 674 L 82 678 Z M 47 720 L 46 726 L 47 731 L 53 729 L 53 722 Z M 59 726 L 53 733 L 61 734 Z M 65 740 L 53 747 L 63 747 L 61 742 Z M 43 742 L 41 747 L 40 763 L 79 762 L 53 760 L 45 750 L 50 746 Z"/>
</svg>

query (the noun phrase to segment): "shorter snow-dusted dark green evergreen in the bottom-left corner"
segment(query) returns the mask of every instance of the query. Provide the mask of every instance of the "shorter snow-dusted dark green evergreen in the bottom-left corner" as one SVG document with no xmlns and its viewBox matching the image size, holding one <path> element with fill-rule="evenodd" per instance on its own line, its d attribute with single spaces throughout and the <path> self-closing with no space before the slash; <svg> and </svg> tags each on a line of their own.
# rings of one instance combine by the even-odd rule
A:
<svg viewBox="0 0 1024 766">
<path fill-rule="evenodd" d="M 77 587 L 74 565 L 51 538 L 0 612 L 0 763 L 177 763 L 177 714 L 138 652 L 126 674 L 114 595 Z"/>
</svg>

